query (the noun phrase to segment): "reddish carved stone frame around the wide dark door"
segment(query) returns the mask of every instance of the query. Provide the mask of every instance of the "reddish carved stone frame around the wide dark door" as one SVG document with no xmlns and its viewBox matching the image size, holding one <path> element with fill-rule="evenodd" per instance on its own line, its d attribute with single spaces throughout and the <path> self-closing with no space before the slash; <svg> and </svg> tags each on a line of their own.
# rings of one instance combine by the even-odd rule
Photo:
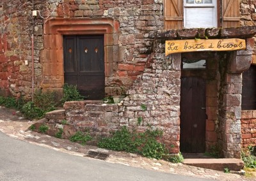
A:
<svg viewBox="0 0 256 181">
<path fill-rule="evenodd" d="M 63 70 L 63 35 L 104 34 L 105 77 L 113 75 L 113 55 L 119 55 L 119 24 L 110 18 L 69 19 L 54 18 L 44 24 L 44 50 L 41 51 L 43 89 L 62 92 L 64 83 Z M 118 59 L 118 56 L 115 57 Z"/>
</svg>

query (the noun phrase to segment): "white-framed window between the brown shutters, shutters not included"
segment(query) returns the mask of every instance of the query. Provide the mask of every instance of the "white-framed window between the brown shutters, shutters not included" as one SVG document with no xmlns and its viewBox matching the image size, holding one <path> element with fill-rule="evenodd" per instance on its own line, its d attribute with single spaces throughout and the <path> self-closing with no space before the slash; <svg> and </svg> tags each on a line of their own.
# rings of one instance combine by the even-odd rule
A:
<svg viewBox="0 0 256 181">
<path fill-rule="evenodd" d="M 216 0 L 184 0 L 184 27 L 217 27 Z"/>
</svg>

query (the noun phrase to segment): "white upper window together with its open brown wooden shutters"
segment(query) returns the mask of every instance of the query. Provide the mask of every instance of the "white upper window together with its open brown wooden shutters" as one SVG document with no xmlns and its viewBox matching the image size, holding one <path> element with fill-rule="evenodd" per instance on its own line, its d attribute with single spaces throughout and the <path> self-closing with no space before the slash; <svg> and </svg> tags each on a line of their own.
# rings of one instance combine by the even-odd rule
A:
<svg viewBox="0 0 256 181">
<path fill-rule="evenodd" d="M 164 29 L 238 27 L 241 0 L 164 0 Z"/>
</svg>

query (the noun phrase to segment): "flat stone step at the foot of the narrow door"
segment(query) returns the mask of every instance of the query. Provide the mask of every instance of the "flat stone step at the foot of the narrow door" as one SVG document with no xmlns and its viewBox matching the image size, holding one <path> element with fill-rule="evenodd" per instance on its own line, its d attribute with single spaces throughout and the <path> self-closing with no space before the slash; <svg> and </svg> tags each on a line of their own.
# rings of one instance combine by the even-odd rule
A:
<svg viewBox="0 0 256 181">
<path fill-rule="evenodd" d="M 225 168 L 240 171 L 244 167 L 241 159 L 184 159 L 184 164 L 219 171 L 224 171 Z"/>
</svg>

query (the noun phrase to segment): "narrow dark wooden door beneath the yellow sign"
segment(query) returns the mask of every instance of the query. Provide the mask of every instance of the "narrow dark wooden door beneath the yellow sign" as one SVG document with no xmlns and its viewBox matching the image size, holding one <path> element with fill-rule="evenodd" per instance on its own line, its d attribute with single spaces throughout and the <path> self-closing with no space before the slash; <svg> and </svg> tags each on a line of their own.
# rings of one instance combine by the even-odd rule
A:
<svg viewBox="0 0 256 181">
<path fill-rule="evenodd" d="M 181 79 L 180 151 L 205 152 L 205 81 L 197 77 Z"/>
</svg>

